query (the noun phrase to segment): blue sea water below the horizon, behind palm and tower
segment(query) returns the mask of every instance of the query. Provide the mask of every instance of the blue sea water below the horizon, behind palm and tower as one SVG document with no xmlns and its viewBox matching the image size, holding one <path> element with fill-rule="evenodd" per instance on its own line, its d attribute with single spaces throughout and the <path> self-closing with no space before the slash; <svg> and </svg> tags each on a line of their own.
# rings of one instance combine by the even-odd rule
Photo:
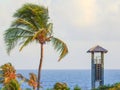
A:
<svg viewBox="0 0 120 90">
<path fill-rule="evenodd" d="M 29 73 L 37 74 L 37 70 L 17 70 L 25 77 L 29 77 Z M 52 88 L 56 82 L 65 82 L 73 89 L 78 85 L 82 90 L 90 90 L 91 88 L 91 71 L 90 70 L 42 70 L 41 82 L 43 90 Z M 104 83 L 114 84 L 120 82 L 120 70 L 105 70 Z M 22 88 L 30 88 L 27 84 L 23 83 Z"/>
</svg>

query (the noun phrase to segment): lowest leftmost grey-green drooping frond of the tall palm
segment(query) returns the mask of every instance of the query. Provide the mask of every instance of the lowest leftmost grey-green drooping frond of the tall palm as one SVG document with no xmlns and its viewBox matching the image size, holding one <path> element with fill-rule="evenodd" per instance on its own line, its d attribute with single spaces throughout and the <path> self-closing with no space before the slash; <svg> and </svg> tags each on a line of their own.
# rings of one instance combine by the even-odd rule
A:
<svg viewBox="0 0 120 90">
<path fill-rule="evenodd" d="M 33 35 L 32 31 L 25 30 L 22 28 L 9 28 L 4 33 L 4 41 L 7 46 L 7 53 L 10 54 L 10 51 L 18 44 L 21 39 L 24 40 L 24 36 Z"/>
</svg>

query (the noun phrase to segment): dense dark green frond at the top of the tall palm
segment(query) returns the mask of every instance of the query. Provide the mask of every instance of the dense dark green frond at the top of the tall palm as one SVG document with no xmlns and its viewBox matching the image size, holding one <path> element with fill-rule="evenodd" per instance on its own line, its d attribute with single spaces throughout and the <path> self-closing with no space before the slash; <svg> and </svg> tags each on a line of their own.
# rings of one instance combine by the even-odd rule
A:
<svg viewBox="0 0 120 90">
<path fill-rule="evenodd" d="M 30 3 L 25 4 L 22 8 L 18 9 L 14 14 L 14 17 L 31 22 L 38 30 L 39 28 L 45 27 L 49 19 L 48 9 L 44 6 Z"/>
</svg>

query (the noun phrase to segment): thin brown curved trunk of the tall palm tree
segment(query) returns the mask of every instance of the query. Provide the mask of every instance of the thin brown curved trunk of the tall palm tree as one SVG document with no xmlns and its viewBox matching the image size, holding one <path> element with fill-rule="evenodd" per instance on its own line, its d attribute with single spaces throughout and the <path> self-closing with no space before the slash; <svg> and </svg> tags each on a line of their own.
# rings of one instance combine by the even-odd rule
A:
<svg viewBox="0 0 120 90">
<path fill-rule="evenodd" d="M 41 69 L 42 69 L 42 61 L 43 61 L 43 44 L 41 44 L 41 55 L 40 55 L 40 64 L 38 68 L 38 85 L 37 85 L 37 90 L 40 88 L 40 79 L 41 79 Z"/>
</svg>

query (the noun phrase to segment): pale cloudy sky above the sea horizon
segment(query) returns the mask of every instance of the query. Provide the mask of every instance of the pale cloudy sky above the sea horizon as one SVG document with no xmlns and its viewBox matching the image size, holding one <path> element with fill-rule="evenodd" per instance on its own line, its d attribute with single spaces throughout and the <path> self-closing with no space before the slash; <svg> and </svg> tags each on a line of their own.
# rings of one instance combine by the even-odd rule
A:
<svg viewBox="0 0 120 90">
<path fill-rule="evenodd" d="M 39 44 L 32 43 L 19 52 L 19 46 L 6 53 L 3 34 L 14 20 L 12 15 L 25 3 L 49 9 L 54 36 L 63 40 L 68 55 L 58 62 L 59 54 L 50 44 L 44 45 L 43 69 L 90 69 L 91 47 L 108 50 L 105 69 L 120 69 L 120 0 L 0 0 L 0 65 L 11 62 L 16 69 L 37 69 Z"/>
</svg>

